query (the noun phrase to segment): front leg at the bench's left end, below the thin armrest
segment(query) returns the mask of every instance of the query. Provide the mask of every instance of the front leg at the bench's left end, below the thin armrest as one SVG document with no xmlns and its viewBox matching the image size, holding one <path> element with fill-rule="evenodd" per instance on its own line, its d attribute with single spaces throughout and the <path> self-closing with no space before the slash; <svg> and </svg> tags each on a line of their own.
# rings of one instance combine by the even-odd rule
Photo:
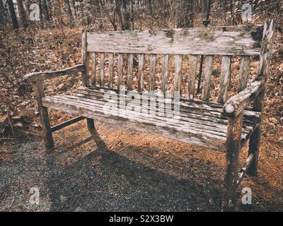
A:
<svg viewBox="0 0 283 226">
<path fill-rule="evenodd" d="M 52 138 L 51 126 L 50 126 L 50 118 L 48 115 L 47 107 L 42 105 L 42 98 L 45 96 L 43 91 L 42 81 L 36 81 L 35 83 L 35 94 L 38 109 L 40 111 L 40 119 L 42 123 L 42 129 L 45 133 L 45 148 L 51 149 L 54 148 L 54 141 Z"/>
</svg>

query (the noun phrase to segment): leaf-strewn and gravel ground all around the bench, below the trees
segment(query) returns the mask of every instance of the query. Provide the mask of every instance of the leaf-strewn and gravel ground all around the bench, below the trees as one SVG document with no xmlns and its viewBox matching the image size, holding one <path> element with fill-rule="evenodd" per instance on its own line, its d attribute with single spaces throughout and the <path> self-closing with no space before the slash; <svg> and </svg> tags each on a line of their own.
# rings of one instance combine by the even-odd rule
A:
<svg viewBox="0 0 283 226">
<path fill-rule="evenodd" d="M 220 210 L 224 153 L 96 122 L 107 146 L 102 148 L 84 121 L 54 133 L 56 148 L 45 153 L 33 87 L 22 78 L 32 71 L 79 64 L 81 30 L 0 31 L 0 210 Z M 283 211 L 282 43 L 282 30 L 277 30 L 258 177 L 241 183 L 240 211 Z M 214 72 L 213 81 L 219 81 Z M 59 78 L 45 83 L 45 91 L 52 95 L 79 84 L 79 76 Z M 58 124 L 71 116 L 52 111 L 50 118 Z M 241 165 L 246 156 L 247 147 Z M 29 203 L 32 187 L 40 191 L 39 205 Z M 251 205 L 241 203 L 244 187 L 252 189 Z"/>
</svg>

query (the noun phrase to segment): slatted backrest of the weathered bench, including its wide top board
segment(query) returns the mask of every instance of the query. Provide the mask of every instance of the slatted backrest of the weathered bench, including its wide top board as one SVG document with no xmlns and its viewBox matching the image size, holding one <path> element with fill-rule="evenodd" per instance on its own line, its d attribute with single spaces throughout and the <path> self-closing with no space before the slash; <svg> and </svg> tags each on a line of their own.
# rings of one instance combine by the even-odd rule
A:
<svg viewBox="0 0 283 226">
<path fill-rule="evenodd" d="M 197 64 L 200 55 L 204 55 L 202 100 L 208 101 L 214 56 L 217 55 L 221 57 L 218 102 L 223 103 L 229 85 L 231 57 L 241 57 L 238 76 L 238 91 L 241 91 L 246 88 L 250 57 L 260 55 L 263 30 L 263 25 L 120 32 L 85 30 L 83 64 L 87 70 L 83 85 L 108 88 L 125 85 L 127 90 L 161 90 L 163 93 L 170 88 L 193 99 Z M 156 56 L 162 68 L 158 69 L 159 81 Z M 185 69 L 182 67 L 184 59 L 190 63 Z M 170 79 L 170 63 L 175 64 L 173 79 Z M 181 87 L 184 79 L 186 87 Z"/>
</svg>

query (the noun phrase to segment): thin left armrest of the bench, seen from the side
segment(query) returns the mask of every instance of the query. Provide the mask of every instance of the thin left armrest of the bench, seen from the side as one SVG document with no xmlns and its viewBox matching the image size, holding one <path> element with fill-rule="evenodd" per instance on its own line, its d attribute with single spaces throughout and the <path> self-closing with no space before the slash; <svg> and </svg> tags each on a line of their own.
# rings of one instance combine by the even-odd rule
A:
<svg viewBox="0 0 283 226">
<path fill-rule="evenodd" d="M 23 81 L 35 82 L 39 80 L 45 80 L 45 79 L 55 78 L 59 76 L 65 76 L 70 73 L 78 73 L 79 71 L 86 71 L 86 66 L 84 64 L 79 64 L 79 65 L 72 66 L 70 68 L 59 70 L 59 71 L 44 71 L 44 72 L 28 73 L 27 75 L 23 76 Z"/>
</svg>

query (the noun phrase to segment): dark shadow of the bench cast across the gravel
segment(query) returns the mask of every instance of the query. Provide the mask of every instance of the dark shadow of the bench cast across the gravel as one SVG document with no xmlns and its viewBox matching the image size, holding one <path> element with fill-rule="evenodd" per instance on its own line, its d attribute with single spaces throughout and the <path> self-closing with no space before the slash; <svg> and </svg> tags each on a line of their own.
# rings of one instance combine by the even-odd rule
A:
<svg viewBox="0 0 283 226">
<path fill-rule="evenodd" d="M 61 148 L 46 154 L 50 211 L 220 210 L 221 192 L 212 185 L 204 187 L 134 162 L 109 150 L 98 133 L 68 150 L 93 138 L 98 148 L 71 165 L 57 165 Z"/>
</svg>

